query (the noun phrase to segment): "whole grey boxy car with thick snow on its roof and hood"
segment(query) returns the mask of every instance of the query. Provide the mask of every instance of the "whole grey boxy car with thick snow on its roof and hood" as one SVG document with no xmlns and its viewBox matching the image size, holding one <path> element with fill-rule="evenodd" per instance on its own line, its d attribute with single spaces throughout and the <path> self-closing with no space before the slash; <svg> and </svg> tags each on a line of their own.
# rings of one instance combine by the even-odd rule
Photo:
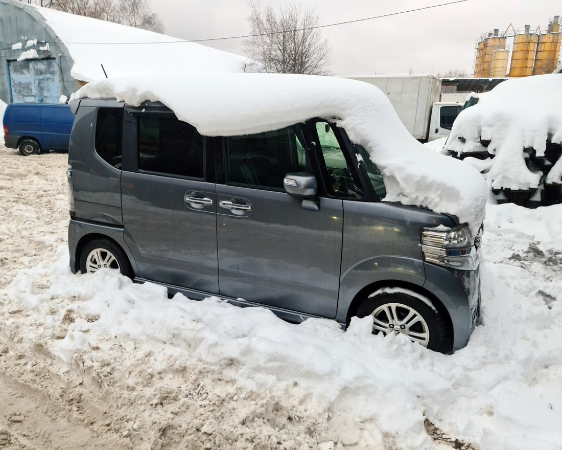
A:
<svg viewBox="0 0 562 450">
<path fill-rule="evenodd" d="M 73 272 L 466 345 L 486 185 L 411 137 L 378 88 L 163 75 L 88 84 L 71 107 Z"/>
</svg>

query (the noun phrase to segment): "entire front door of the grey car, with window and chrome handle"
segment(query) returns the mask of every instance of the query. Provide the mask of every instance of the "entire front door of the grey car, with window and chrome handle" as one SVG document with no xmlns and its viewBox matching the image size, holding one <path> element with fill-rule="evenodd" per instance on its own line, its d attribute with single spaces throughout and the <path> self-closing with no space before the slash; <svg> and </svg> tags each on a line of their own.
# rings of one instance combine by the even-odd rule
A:
<svg viewBox="0 0 562 450">
<path fill-rule="evenodd" d="M 311 172 L 303 125 L 224 140 L 217 183 L 220 294 L 323 317 L 336 315 L 342 200 L 288 195 L 289 172 Z"/>
</svg>

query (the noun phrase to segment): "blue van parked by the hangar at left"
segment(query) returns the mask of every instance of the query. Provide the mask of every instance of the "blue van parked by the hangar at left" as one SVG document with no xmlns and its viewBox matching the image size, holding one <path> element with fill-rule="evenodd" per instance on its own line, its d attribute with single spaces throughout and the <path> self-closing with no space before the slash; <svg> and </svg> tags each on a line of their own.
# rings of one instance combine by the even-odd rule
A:
<svg viewBox="0 0 562 450">
<path fill-rule="evenodd" d="M 74 114 L 65 104 L 12 104 L 4 113 L 4 143 L 22 156 L 68 151 Z"/>
</svg>

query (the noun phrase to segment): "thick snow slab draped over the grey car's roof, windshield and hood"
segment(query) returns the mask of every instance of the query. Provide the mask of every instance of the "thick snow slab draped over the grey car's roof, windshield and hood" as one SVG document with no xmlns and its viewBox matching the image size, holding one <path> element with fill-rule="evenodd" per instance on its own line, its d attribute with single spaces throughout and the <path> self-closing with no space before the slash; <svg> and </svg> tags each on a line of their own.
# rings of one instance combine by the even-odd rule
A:
<svg viewBox="0 0 562 450">
<path fill-rule="evenodd" d="M 386 201 L 456 215 L 476 232 L 487 187 L 473 167 L 426 149 L 375 86 L 355 80 L 287 74 L 162 75 L 101 80 L 74 99 L 160 101 L 206 136 L 234 136 L 327 118 L 364 146 L 382 170 Z"/>
</svg>

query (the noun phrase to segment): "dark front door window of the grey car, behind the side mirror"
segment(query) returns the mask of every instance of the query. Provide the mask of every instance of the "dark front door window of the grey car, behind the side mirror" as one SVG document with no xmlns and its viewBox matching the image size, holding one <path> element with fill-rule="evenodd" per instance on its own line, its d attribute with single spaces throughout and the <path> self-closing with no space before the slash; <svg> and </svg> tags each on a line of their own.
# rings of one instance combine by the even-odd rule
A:
<svg viewBox="0 0 562 450">
<path fill-rule="evenodd" d="M 300 125 L 226 138 L 229 184 L 283 190 L 288 172 L 310 172 Z"/>
</svg>

